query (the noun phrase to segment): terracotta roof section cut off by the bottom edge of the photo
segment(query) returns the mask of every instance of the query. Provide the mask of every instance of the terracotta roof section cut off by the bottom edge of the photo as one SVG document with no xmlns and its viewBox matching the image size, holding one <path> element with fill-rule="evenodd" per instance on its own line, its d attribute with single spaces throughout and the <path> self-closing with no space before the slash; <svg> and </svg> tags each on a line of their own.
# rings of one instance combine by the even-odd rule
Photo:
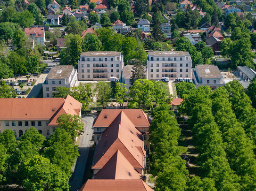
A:
<svg viewBox="0 0 256 191">
<path fill-rule="evenodd" d="M 153 191 L 142 180 L 87 180 L 79 191 Z"/>
</svg>

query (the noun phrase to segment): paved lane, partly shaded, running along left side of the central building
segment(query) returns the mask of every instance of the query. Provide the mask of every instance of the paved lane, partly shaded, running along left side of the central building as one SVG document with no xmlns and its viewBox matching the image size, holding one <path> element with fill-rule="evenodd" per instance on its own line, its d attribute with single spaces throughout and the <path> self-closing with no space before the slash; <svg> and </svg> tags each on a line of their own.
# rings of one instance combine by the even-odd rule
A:
<svg viewBox="0 0 256 191">
<path fill-rule="evenodd" d="M 84 133 L 80 137 L 80 142 L 78 147 L 80 157 L 78 157 L 78 159 L 76 160 L 74 173 L 69 180 L 69 185 L 70 185 L 69 191 L 77 191 L 84 183 L 83 175 L 85 176 L 87 175 L 87 173 L 84 171 L 85 171 L 90 147 L 94 144 L 94 141 L 92 141 L 92 135 L 93 135 L 92 123 L 95 117 L 96 117 L 95 115 L 82 117 L 84 122 L 84 130 L 83 130 Z"/>
</svg>

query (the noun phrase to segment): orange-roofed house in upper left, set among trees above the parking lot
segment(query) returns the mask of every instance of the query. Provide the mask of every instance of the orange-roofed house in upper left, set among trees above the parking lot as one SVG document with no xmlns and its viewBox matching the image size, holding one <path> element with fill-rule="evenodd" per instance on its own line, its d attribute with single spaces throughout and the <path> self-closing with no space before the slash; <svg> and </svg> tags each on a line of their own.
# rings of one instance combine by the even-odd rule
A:
<svg viewBox="0 0 256 191">
<path fill-rule="evenodd" d="M 45 34 L 43 27 L 30 27 L 24 29 L 25 35 L 35 43 L 44 46 Z"/>
</svg>

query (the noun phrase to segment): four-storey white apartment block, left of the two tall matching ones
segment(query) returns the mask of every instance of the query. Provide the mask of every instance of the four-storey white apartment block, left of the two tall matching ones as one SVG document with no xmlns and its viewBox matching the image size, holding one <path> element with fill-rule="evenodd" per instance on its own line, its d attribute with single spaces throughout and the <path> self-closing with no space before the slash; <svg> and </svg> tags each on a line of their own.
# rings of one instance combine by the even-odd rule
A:
<svg viewBox="0 0 256 191">
<path fill-rule="evenodd" d="M 78 61 L 79 80 L 120 79 L 124 67 L 124 56 L 121 52 L 83 52 Z"/>
</svg>

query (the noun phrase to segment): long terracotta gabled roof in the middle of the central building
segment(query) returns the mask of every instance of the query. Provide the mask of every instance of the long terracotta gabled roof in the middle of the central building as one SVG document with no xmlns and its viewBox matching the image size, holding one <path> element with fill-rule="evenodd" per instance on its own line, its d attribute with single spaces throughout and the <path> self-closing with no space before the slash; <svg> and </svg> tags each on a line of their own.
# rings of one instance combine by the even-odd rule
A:
<svg viewBox="0 0 256 191">
<path fill-rule="evenodd" d="M 108 113 L 110 113 L 110 110 Z M 96 146 L 92 169 L 101 169 L 119 150 L 133 168 L 144 168 L 146 153 L 142 134 L 121 111 L 116 119 L 101 134 Z"/>
</svg>

